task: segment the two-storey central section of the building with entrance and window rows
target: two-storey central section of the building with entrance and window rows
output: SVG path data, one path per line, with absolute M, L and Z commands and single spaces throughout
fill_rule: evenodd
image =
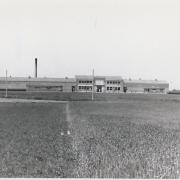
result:
M 120 93 L 123 92 L 123 79 L 120 76 L 76 76 L 78 92 Z

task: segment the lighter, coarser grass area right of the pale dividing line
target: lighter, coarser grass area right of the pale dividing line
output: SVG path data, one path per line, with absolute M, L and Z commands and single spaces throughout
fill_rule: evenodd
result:
M 179 178 L 180 103 L 73 102 L 77 177 Z

